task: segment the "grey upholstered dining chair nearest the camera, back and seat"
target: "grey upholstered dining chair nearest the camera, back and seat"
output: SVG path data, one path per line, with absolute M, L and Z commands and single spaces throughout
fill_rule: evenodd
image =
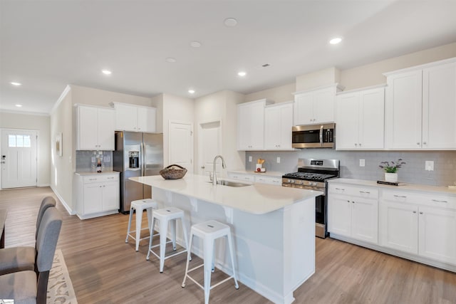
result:
M 49 271 L 61 226 L 62 217 L 57 209 L 46 209 L 38 227 L 34 271 L 19 271 L 0 276 L 0 299 L 14 299 L 15 304 L 46 304 Z

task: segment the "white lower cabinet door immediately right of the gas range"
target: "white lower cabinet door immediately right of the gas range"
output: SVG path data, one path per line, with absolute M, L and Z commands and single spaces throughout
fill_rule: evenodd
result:
M 328 195 L 328 231 L 351 236 L 351 201 L 348 196 Z

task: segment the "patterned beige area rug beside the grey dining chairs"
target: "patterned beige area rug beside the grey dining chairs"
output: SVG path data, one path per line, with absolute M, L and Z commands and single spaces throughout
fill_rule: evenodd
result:
M 49 273 L 48 299 L 46 302 L 47 304 L 78 304 L 73 283 L 71 283 L 70 274 L 60 249 L 56 250 L 51 272 Z

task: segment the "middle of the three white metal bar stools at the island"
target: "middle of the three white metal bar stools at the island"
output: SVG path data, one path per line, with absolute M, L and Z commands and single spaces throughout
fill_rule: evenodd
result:
M 176 253 L 172 253 L 169 256 L 165 256 L 165 248 L 167 243 L 172 242 L 172 248 L 176 250 L 176 221 L 180 219 L 180 223 L 182 224 L 182 230 L 184 232 L 184 239 L 185 239 L 185 250 L 179 251 Z M 185 229 L 185 222 L 184 222 L 184 211 L 175 207 L 167 207 L 163 209 L 154 210 L 152 214 L 152 226 L 155 226 L 155 221 L 158 220 L 160 222 L 160 243 L 157 245 L 152 246 L 152 237 L 149 240 L 149 252 L 147 252 L 146 260 L 149 261 L 150 253 L 153 253 L 157 258 L 160 258 L 160 273 L 163 272 L 163 266 L 165 265 L 165 260 L 167 258 L 171 258 L 172 256 L 177 256 L 177 254 L 185 253 L 188 247 L 188 239 L 187 239 L 187 229 Z M 168 222 L 172 221 L 171 223 L 171 234 L 172 240 L 167 240 L 167 229 L 168 229 Z M 160 256 L 157 255 L 152 248 L 160 246 Z

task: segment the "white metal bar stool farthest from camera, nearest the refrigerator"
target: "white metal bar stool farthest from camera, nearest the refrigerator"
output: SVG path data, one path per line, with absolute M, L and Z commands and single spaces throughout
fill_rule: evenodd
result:
M 152 209 L 157 209 L 157 202 L 153 199 L 138 199 L 137 201 L 132 201 L 130 205 L 130 218 L 128 219 L 128 229 L 127 229 L 127 237 L 125 238 L 125 243 L 128 243 L 128 236 L 136 241 L 136 251 L 138 251 L 140 246 L 140 241 L 144 239 L 149 239 L 150 236 L 153 234 L 152 226 L 150 223 L 152 221 Z M 133 210 L 136 210 L 136 229 L 130 231 L 131 227 L 131 219 L 133 217 Z M 142 211 L 147 211 L 147 221 L 149 226 L 147 228 L 142 228 Z M 141 230 L 149 229 L 149 236 L 140 239 Z M 136 232 L 135 236 L 133 236 L 133 232 Z

